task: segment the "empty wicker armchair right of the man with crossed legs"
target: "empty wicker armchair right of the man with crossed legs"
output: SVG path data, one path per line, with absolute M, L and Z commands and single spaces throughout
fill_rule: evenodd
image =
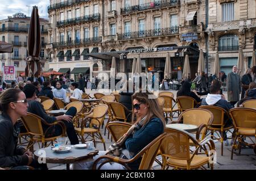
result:
M 92 137 L 92 140 L 94 142 L 94 146 L 96 146 L 96 138 L 101 140 L 100 142 L 104 145 L 104 150 L 106 150 L 105 140 L 101 136 L 100 127 L 105 119 L 106 112 L 108 111 L 108 106 L 105 104 L 100 104 L 96 107 L 94 107 L 90 112 L 88 112 L 88 116 L 85 116 L 85 118 L 82 120 L 81 127 L 76 127 L 76 133 L 79 135 L 81 142 L 84 143 L 86 141 L 87 137 Z M 86 128 L 86 125 L 89 125 L 88 128 Z M 84 138 L 84 134 L 87 134 L 87 136 Z

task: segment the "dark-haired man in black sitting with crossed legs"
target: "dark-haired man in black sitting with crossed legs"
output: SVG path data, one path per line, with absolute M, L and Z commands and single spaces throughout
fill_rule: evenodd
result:
M 68 138 L 71 142 L 71 145 L 79 144 L 79 140 L 77 138 L 75 128 L 72 123 L 72 118 L 76 115 L 76 108 L 71 107 L 68 109 L 68 111 L 65 113 L 65 115 L 62 116 L 48 116 L 46 111 L 44 110 L 44 107 L 41 103 L 36 101 L 37 97 L 35 94 L 35 86 L 33 85 L 26 85 L 23 88 L 23 92 L 26 94 L 27 100 L 28 100 L 28 112 L 34 113 L 35 115 L 38 115 L 42 117 L 47 123 L 54 123 L 55 121 L 63 121 L 63 123 L 66 126 Z M 48 128 L 47 125 L 43 125 L 43 130 L 46 131 Z M 62 129 L 59 125 L 56 125 L 54 128 L 49 129 L 49 131 L 46 133 L 47 137 L 52 136 L 58 136 L 62 133 Z

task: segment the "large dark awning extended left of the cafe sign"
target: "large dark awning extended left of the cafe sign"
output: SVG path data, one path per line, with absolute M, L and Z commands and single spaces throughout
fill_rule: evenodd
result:
M 120 57 L 120 56 L 125 57 L 127 55 L 127 53 L 129 53 L 129 52 L 125 50 L 125 51 L 90 53 L 90 54 L 87 54 L 87 55 L 90 56 L 90 57 L 93 57 L 93 58 L 101 59 L 101 60 L 112 60 L 112 57 L 122 59 L 122 57 Z

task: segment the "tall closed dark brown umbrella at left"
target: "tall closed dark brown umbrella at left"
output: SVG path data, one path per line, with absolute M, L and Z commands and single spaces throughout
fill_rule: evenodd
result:
M 33 6 L 30 28 L 28 30 L 27 37 L 27 65 L 25 69 L 25 74 L 28 77 L 39 77 L 41 72 L 41 64 L 39 60 L 39 54 L 41 50 L 41 32 L 40 32 L 40 22 L 38 15 L 38 7 Z

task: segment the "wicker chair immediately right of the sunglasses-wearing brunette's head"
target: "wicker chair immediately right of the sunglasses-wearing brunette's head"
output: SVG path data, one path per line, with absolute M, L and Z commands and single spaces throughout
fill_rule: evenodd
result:
M 173 113 L 179 112 L 179 109 L 174 109 L 175 105 L 172 104 L 172 102 L 176 104 L 175 99 L 167 95 L 160 95 L 159 98 L 164 99 L 163 112 L 166 115 L 166 119 L 170 118 L 172 120 L 172 117 L 174 116 Z

